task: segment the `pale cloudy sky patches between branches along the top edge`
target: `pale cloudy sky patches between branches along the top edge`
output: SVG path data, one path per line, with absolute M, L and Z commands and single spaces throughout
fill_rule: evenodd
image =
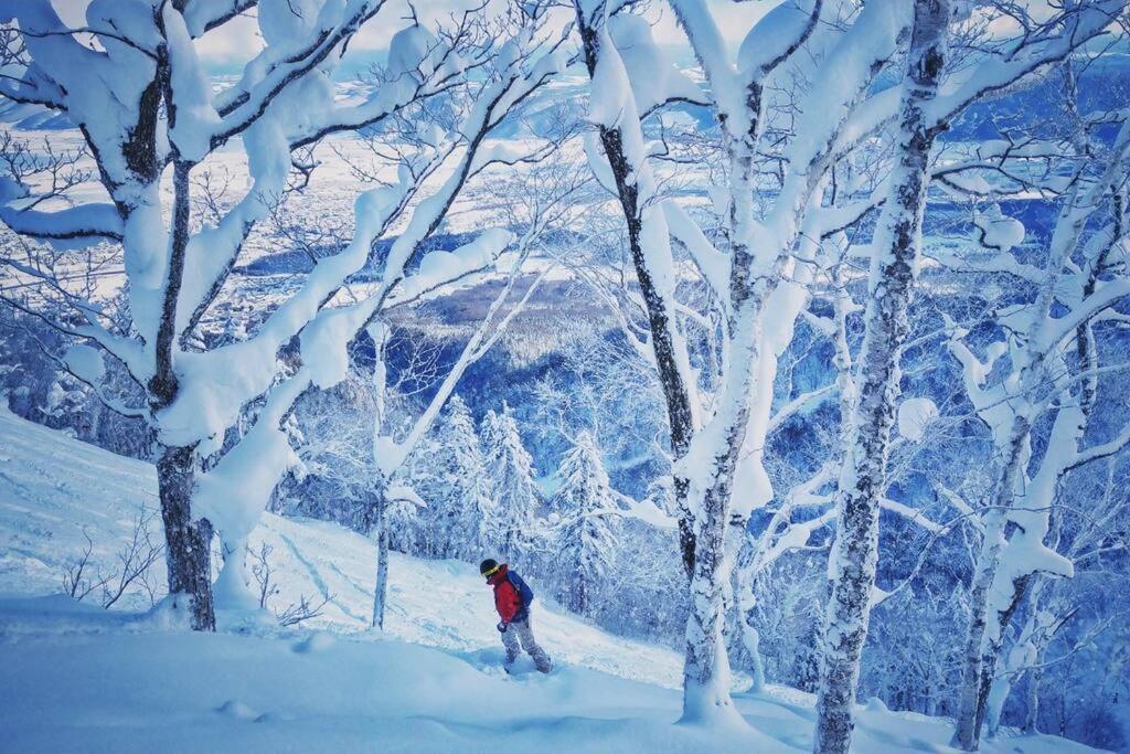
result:
M 76 26 L 85 24 L 86 7 L 90 0 L 51 0 L 63 20 Z M 416 0 L 416 10 L 424 20 L 446 16 L 478 0 Z M 780 0 L 707 0 L 719 19 L 723 36 L 731 45 L 737 45 L 758 18 L 764 16 Z M 388 7 L 376 18 L 366 24 L 351 43 L 353 50 L 379 52 L 385 50 L 393 34 L 406 25 L 407 5 L 403 0 L 389 0 Z M 684 45 L 686 40 L 679 32 L 670 9 L 663 8 L 652 14 L 655 38 L 661 44 Z M 259 49 L 258 26 L 254 11 L 236 18 L 221 28 L 207 34 L 198 42 L 198 47 L 216 67 L 232 67 L 251 59 Z

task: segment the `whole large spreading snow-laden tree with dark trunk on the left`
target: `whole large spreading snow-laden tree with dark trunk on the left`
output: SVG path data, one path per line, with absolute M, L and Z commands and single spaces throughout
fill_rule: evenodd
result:
M 216 93 L 194 40 L 252 5 L 264 49 L 234 85 Z M 511 242 L 508 233 L 487 232 L 454 254 L 443 252 L 442 263 L 433 258 L 410 265 L 466 181 L 495 158 L 479 151 L 484 138 L 560 64 L 555 44 L 538 34 L 536 9 L 523 6 L 508 17 L 524 27 L 510 29 L 513 35 L 487 28 L 469 11 L 438 33 L 416 24 L 399 32 L 364 96 L 341 104 L 333 71 L 350 38 L 384 5 L 299 5 L 92 3 L 87 25 L 71 28 L 47 0 L 0 3 L 0 20 L 12 25 L 21 42 L 11 61 L 18 68 L 6 75 L 0 94 L 64 113 L 82 133 L 104 194 L 68 206 L 61 194 L 75 182 L 49 177 L 67 170 L 58 162 L 33 173 L 8 171 L 0 218 L 38 241 L 120 248 L 128 319 L 115 322 L 104 302 L 75 293 L 42 268 L 9 266 L 8 272 L 70 305 L 75 315 L 54 322 L 56 328 L 93 344 L 132 376 L 139 398 L 132 410 L 149 421 L 160 443 L 168 601 L 198 630 L 215 626 L 212 531 L 220 532 L 226 552 L 244 552 L 276 483 L 295 461 L 281 428 L 295 400 L 345 376 L 348 344 L 383 307 L 490 265 Z M 477 71 L 473 81 L 464 76 L 468 69 Z M 279 196 L 305 190 L 316 170 L 301 159 L 302 150 L 336 132 L 391 122 L 440 96 L 452 102 L 462 96 L 467 106 L 457 109 L 452 128 L 432 129 L 401 154 L 391 180 L 360 193 L 348 244 L 318 260 L 251 337 L 207 347 L 199 333 L 249 236 Z M 246 153 L 250 188 L 201 226 L 192 217 L 193 172 L 233 144 Z M 409 211 L 425 181 L 443 175 L 428 201 Z M 171 199 L 162 189 L 164 177 L 172 179 Z M 340 305 L 338 293 L 349 276 L 401 218 L 408 218 L 407 227 L 383 260 L 380 279 L 359 301 Z M 8 303 L 34 306 L 27 298 Z M 290 369 L 278 354 L 295 340 L 301 363 Z M 247 411 L 255 414 L 253 426 L 225 444 L 228 430 Z M 220 457 L 201 473 L 201 460 L 216 453 Z M 241 557 L 228 558 L 217 590 L 233 604 L 254 603 Z

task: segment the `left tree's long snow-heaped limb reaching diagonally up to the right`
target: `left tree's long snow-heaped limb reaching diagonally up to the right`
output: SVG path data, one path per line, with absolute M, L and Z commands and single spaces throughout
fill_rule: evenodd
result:
M 420 261 L 415 276 L 406 277 L 409 260 L 440 226 L 471 175 L 478 148 L 486 136 L 511 107 L 542 86 L 559 68 L 556 47 L 538 59 L 525 73 L 514 68 L 522 63 L 516 53 L 515 50 L 507 60 L 499 61 L 503 78 L 485 87 L 460 127 L 460 138 L 468 140 L 467 146 L 459 151 L 440 150 L 441 162 L 453 155 L 446 161 L 450 175 L 434 193 L 417 203 L 408 226 L 392 243 L 376 288 L 356 305 L 323 311 L 346 279 L 364 266 L 373 242 L 400 216 L 406 197 L 415 193 L 420 182 L 432 174 L 432 168 L 424 174 L 401 171 L 400 184 L 362 194 L 355 207 L 356 228 L 349 245 L 338 254 L 319 260 L 302 288 L 271 313 L 253 338 L 205 354 L 183 354 L 182 390 L 176 404 L 165 413 L 166 436 L 177 440 L 192 435 L 220 436 L 244 405 L 270 388 L 275 378 L 275 354 L 299 333 L 306 356 L 303 376 L 321 388 L 336 384 L 346 373 L 346 346 L 383 306 L 394 302 L 393 293 L 401 301 L 418 296 L 483 269 L 510 244 L 508 234 L 488 232 L 455 253 L 432 252 Z M 238 372 L 235 380 L 220 378 L 233 371 L 233 366 L 224 364 L 237 363 L 258 366 L 235 370 Z M 201 411 L 201 406 L 210 406 L 212 410 Z

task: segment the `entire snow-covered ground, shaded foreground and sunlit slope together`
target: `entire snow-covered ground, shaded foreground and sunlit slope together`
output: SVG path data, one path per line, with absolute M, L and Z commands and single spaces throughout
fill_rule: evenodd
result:
M 739 694 L 748 730 L 673 726 L 676 652 L 544 600 L 534 625 L 557 667 L 505 675 L 489 592 L 464 563 L 393 556 L 388 631 L 367 632 L 374 548 L 322 522 L 267 515 L 252 541 L 272 547 L 272 607 L 331 597 L 303 631 L 221 616 L 215 635 L 169 632 L 140 593 L 108 613 L 47 596 L 84 531 L 110 567 L 142 504 L 156 504 L 149 466 L 0 411 L 0 751 L 810 749 L 808 695 Z M 877 702 L 859 729 L 859 752 L 949 751 L 953 730 Z M 1087 749 L 1037 736 L 982 751 Z

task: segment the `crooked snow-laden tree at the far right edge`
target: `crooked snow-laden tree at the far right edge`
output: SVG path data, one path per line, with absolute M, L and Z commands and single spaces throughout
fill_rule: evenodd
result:
M 955 329 L 950 350 L 962 363 L 965 389 L 999 456 L 992 499 L 979 521 L 982 544 L 971 584 L 965 678 L 956 743 L 977 746 L 1005 631 L 1036 573 L 1071 577 L 1071 562 L 1049 545 L 1051 511 L 1071 470 L 1119 452 L 1130 425 L 1104 441 L 1085 442 L 1099 400 L 1099 341 L 1095 327 L 1121 298 L 1130 279 L 1115 261 L 1130 237 L 1125 181 L 1130 175 L 1130 124 L 1123 121 L 1109 147 L 1084 133 L 1066 147 L 1070 179 L 1044 263 L 1011 259 L 1024 226 L 996 211 L 977 218 L 992 259 L 1031 292 L 996 318 L 996 337 L 980 358 Z M 1075 153 L 1075 154 L 1072 154 Z M 1102 154 L 1101 161 L 1094 155 Z M 1052 179 L 1057 181 L 1058 176 Z M 1001 228 L 1015 228 L 1007 234 Z M 984 266 L 974 259 L 975 267 Z M 1114 319 L 1121 315 L 1115 313 Z M 1072 364 L 1072 362 L 1075 362 Z M 1042 456 L 1033 449 L 1041 417 L 1051 417 Z M 1000 684 L 998 694 L 1001 693 Z M 997 707 L 999 714 L 999 704 Z M 991 721 L 996 728 L 996 721 Z

